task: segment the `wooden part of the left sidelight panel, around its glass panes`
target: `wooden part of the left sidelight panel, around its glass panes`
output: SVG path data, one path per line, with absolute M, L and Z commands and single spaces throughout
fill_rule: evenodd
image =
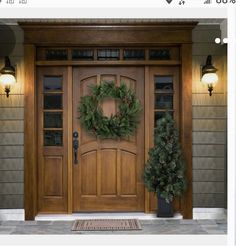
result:
M 62 145 L 44 143 L 44 76 L 62 77 Z M 38 118 L 38 212 L 68 212 L 68 69 L 39 68 L 37 71 Z M 48 93 L 48 92 L 47 92 Z

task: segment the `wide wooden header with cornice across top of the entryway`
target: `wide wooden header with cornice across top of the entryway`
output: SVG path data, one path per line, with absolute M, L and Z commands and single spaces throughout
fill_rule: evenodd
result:
M 153 25 L 49 25 L 20 23 L 25 43 L 68 45 L 120 45 L 150 43 L 190 43 L 196 23 L 156 23 Z M 174 32 L 173 32 L 174 31 Z M 58 35 L 60 32 L 60 35 Z M 104 41 L 104 37 L 107 37 Z

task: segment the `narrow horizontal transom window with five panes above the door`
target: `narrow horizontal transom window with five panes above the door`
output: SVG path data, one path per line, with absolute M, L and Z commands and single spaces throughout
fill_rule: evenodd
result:
M 38 61 L 179 61 L 180 49 L 168 47 L 72 47 L 72 48 L 38 48 Z

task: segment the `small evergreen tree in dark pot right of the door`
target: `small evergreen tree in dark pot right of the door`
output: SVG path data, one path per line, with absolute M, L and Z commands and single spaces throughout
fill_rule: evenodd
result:
M 169 113 L 157 121 L 154 147 L 144 169 L 144 184 L 157 195 L 157 217 L 173 217 L 172 201 L 185 189 L 179 133 Z

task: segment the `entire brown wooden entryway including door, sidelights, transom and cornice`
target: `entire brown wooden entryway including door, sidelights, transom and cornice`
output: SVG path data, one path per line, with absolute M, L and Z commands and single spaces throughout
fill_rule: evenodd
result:
M 191 30 L 195 24 L 21 25 L 27 67 L 27 219 L 44 213 L 155 212 L 157 201 L 144 188 L 143 168 L 155 122 L 166 110 L 179 127 L 187 163 L 188 188 L 174 201 L 174 209 L 184 218 L 192 217 Z M 85 36 L 90 38 L 85 41 Z M 89 92 L 89 85 L 103 80 L 117 86 L 124 81 L 140 100 L 142 113 L 134 136 L 101 140 L 81 127 L 80 98 Z M 103 113 L 114 115 L 117 106 L 112 99 L 103 100 Z

